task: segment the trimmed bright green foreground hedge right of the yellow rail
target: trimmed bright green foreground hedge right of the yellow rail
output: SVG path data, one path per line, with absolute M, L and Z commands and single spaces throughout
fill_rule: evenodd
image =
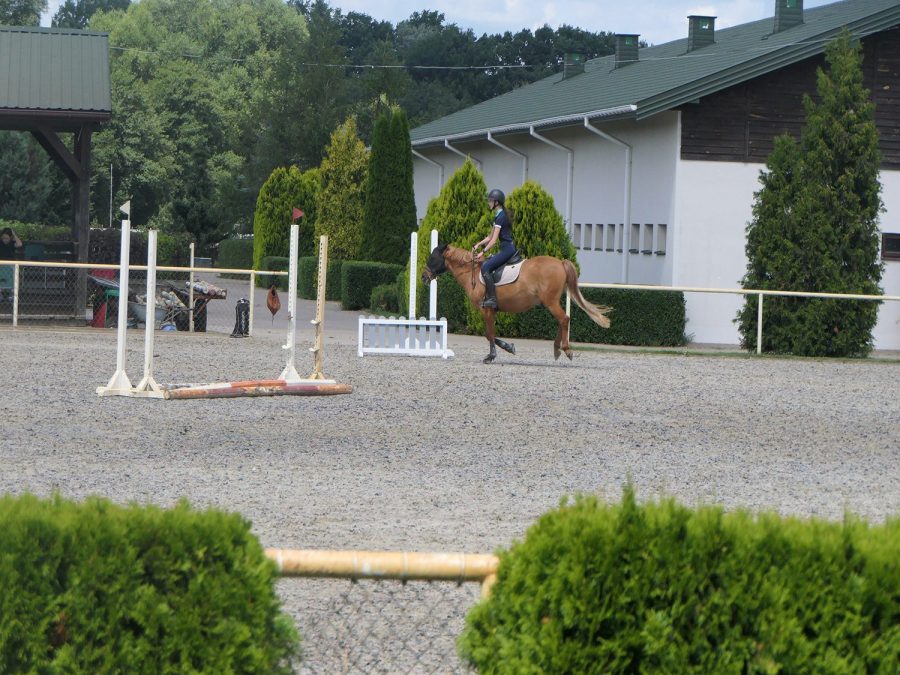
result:
M 483 673 L 888 673 L 900 519 L 869 526 L 593 498 L 501 553 L 460 650 Z

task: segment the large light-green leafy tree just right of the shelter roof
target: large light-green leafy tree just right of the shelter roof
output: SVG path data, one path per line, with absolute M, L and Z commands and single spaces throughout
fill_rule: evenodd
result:
M 290 71 L 303 18 L 279 0 L 144 0 L 90 26 L 112 48 L 113 117 L 95 137 L 94 210 L 109 199 L 112 164 L 114 201 L 132 199 L 136 224 L 188 232 L 201 247 L 246 230 L 274 166 L 255 182 L 264 92 L 276 71 Z

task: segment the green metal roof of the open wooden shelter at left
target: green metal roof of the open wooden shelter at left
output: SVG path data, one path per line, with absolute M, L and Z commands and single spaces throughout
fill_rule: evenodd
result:
M 111 111 L 106 33 L 0 26 L 0 110 Z

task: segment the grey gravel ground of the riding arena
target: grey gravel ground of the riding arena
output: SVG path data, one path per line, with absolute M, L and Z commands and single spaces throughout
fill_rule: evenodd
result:
M 208 332 L 157 333 L 157 381 L 281 372 L 286 298 L 270 325 L 257 291 L 253 337 L 231 339 L 246 286 L 222 283 L 228 300 L 210 304 Z M 314 303 L 298 308 L 305 375 Z M 115 330 L 7 320 L 0 491 L 164 507 L 184 497 L 241 513 L 267 547 L 467 553 L 508 547 L 566 495 L 618 501 L 629 480 L 641 500 L 831 520 L 900 513 L 896 354 L 591 348 L 569 362 L 549 341 L 516 340 L 515 356 L 485 366 L 483 338 L 451 335 L 449 360 L 359 358 L 357 317 L 328 303 L 325 374 L 352 394 L 190 401 L 97 396 L 115 370 Z M 136 383 L 143 328 L 128 335 Z M 299 672 L 465 671 L 454 640 L 477 584 L 283 579 L 279 593 L 303 636 Z

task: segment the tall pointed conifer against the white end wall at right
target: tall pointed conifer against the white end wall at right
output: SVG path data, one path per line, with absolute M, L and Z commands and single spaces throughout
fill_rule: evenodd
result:
M 747 230 L 747 288 L 880 293 L 881 185 L 874 105 L 862 53 L 844 31 L 826 49 L 819 101 L 804 99 L 799 148 L 779 139 L 761 177 Z M 742 344 L 756 348 L 756 298 L 738 315 Z M 872 348 L 873 302 L 820 298 L 765 301 L 763 348 L 805 356 L 860 356 Z

